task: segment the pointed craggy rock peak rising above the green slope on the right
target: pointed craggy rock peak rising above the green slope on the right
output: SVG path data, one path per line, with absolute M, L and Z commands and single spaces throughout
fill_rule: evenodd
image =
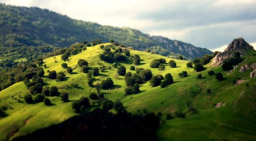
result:
M 244 55 L 246 50 L 254 50 L 254 49 L 243 38 L 233 39 L 233 41 L 229 43 L 229 45 L 224 50 L 224 52 L 218 53 L 215 56 L 215 58 L 211 62 L 211 65 L 213 66 L 221 65 L 224 60 L 232 57 L 231 51 L 240 52 L 241 55 Z

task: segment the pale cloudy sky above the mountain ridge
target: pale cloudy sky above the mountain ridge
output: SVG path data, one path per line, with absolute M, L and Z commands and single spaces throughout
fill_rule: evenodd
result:
M 129 27 L 223 51 L 234 38 L 256 46 L 256 0 L 0 0 L 74 19 Z M 255 49 L 255 47 L 254 47 Z

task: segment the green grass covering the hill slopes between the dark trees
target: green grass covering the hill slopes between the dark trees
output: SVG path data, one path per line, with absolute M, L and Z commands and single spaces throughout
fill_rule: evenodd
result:
M 108 43 L 106 43 L 108 44 Z M 106 45 L 104 44 L 104 45 Z M 111 66 L 98 57 L 103 52 L 99 48 L 100 45 L 87 48 L 86 51 L 71 56 L 68 62 L 69 66 L 75 68 L 78 59 L 85 59 L 89 62 L 90 67 L 98 66 L 97 62 L 103 63 L 105 66 Z M 138 54 L 141 58 L 141 64 L 137 67 L 148 68 L 152 70 L 153 75 L 165 75 L 171 73 L 175 83 L 165 88 L 151 87 L 149 83 L 142 84 L 141 92 L 136 95 L 124 95 L 125 82 L 124 77 L 120 76 L 115 79 L 117 68 L 107 69 L 104 73 L 100 73 L 98 77 L 94 77 L 98 81 L 111 77 L 115 87 L 111 90 L 101 90 L 106 98 L 116 101 L 121 100 L 126 109 L 131 112 L 138 112 L 146 109 L 155 113 L 162 113 L 162 124 L 158 131 L 160 140 L 170 139 L 256 139 L 256 121 L 255 121 L 255 78 L 249 78 L 251 70 L 240 74 L 238 69 L 227 73 L 221 67 L 211 67 L 208 64 L 206 70 L 200 72 L 203 79 L 197 79 L 199 73 L 193 68 L 187 68 L 187 61 L 175 60 L 177 67 L 170 68 L 165 64 L 165 70 L 160 72 L 158 68 L 150 68 L 150 62 L 153 59 L 164 58 L 166 62 L 170 58 L 160 55 L 130 50 L 131 55 Z M 253 52 L 254 53 L 254 52 Z M 247 56 L 251 56 L 252 52 Z M 73 74 L 68 74 L 66 69 L 61 67 L 61 56 L 50 57 L 44 60 L 47 70 L 63 71 L 67 77 L 65 81 L 56 82 L 56 80 L 44 77 L 45 86 L 57 86 L 59 91 L 69 93 L 71 101 L 79 99 L 81 96 L 89 96 L 89 92 L 96 90 L 87 83 L 87 74 L 81 73 L 80 67 L 73 70 Z M 56 61 L 55 61 L 56 60 Z M 256 57 L 245 60 L 239 66 L 249 62 L 256 62 Z M 126 67 L 126 72 L 133 65 L 131 60 L 125 62 L 117 62 L 119 65 Z M 186 70 L 188 77 L 179 78 L 178 73 Z M 215 73 L 224 74 L 225 80 L 217 81 L 215 76 L 209 76 L 207 72 L 214 70 Z M 132 74 L 135 71 L 131 71 Z M 45 74 L 45 76 L 48 74 Z M 245 83 L 233 85 L 233 80 L 246 80 L 249 87 Z M 97 82 L 94 82 L 97 83 Z M 78 84 L 75 88 L 72 84 Z M 207 93 L 207 89 L 211 89 L 211 93 Z M 12 138 L 18 135 L 26 134 L 42 127 L 57 124 L 65 121 L 69 117 L 75 115 L 71 107 L 71 102 L 63 103 L 60 97 L 49 97 L 53 103 L 52 106 L 45 106 L 43 103 L 27 104 L 19 103 L 17 100 L 11 99 L 24 96 L 28 93 L 23 82 L 0 91 L 0 105 L 8 105 L 6 117 L 0 119 L 0 140 L 4 138 Z M 22 100 L 24 102 L 24 100 Z M 219 108 L 214 105 L 220 103 Z M 93 104 L 93 101 L 91 101 Z M 188 112 L 189 107 L 197 108 L 198 112 L 193 114 Z M 186 113 L 185 118 L 176 117 L 175 112 Z M 175 119 L 166 120 L 166 114 L 172 114 Z M 0 117 L 1 118 L 1 117 Z

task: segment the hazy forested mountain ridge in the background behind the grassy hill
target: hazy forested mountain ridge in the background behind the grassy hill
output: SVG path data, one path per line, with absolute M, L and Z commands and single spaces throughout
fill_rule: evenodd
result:
M 1 46 L 70 46 L 83 40 L 114 39 L 126 46 L 144 51 L 152 49 L 161 55 L 180 54 L 186 58 L 202 57 L 207 49 L 160 36 L 150 36 L 130 28 L 101 26 L 97 23 L 71 19 L 65 15 L 36 7 L 0 5 Z M 153 48 L 154 47 L 154 48 Z

